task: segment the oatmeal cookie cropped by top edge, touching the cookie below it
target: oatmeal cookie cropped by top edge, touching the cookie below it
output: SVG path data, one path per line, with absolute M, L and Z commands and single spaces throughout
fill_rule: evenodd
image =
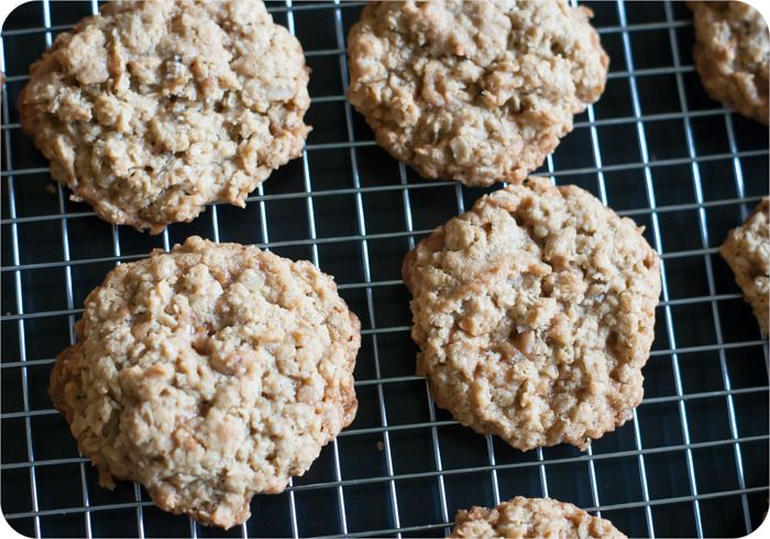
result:
M 561 0 L 370 2 L 348 37 L 348 97 L 422 176 L 518 183 L 604 91 L 590 16 Z

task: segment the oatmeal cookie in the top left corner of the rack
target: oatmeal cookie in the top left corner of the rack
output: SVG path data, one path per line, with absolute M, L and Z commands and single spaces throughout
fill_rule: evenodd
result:
M 260 0 L 109 2 L 32 65 L 21 123 L 97 215 L 161 232 L 300 155 L 308 69 Z

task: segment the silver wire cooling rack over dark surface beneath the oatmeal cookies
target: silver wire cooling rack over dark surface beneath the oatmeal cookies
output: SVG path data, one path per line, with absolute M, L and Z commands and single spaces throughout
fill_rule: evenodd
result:
M 710 100 L 679 3 L 591 3 L 612 63 L 540 174 L 578 184 L 647 227 L 662 255 L 657 338 L 634 421 L 585 453 L 516 451 L 458 426 L 414 375 L 400 263 L 481 189 L 426 182 L 373 142 L 344 98 L 346 33 L 361 2 L 270 7 L 312 68 L 307 148 L 252 194 L 158 237 L 67 200 L 19 129 L 29 65 L 96 2 L 32 2 L 2 29 L 1 505 L 36 537 L 442 536 L 459 508 L 551 496 L 629 536 L 741 536 L 768 504 L 768 349 L 717 250 L 768 191 L 768 132 Z M 336 276 L 363 345 L 355 422 L 282 495 L 255 496 L 228 532 L 164 514 L 139 486 L 98 486 L 47 378 L 88 292 L 118 262 L 191 234 L 255 243 Z

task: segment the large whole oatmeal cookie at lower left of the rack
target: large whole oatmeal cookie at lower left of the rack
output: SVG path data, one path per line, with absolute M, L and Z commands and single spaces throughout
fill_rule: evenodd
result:
M 103 486 L 230 528 L 353 420 L 359 328 L 309 262 L 193 237 L 91 292 L 50 393 Z

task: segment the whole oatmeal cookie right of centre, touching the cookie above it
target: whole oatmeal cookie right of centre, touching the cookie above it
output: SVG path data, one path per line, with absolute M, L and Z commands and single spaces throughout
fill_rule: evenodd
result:
M 585 449 L 641 400 L 658 256 L 591 194 L 532 177 L 485 196 L 403 275 L 417 372 L 462 425 L 521 450 Z

